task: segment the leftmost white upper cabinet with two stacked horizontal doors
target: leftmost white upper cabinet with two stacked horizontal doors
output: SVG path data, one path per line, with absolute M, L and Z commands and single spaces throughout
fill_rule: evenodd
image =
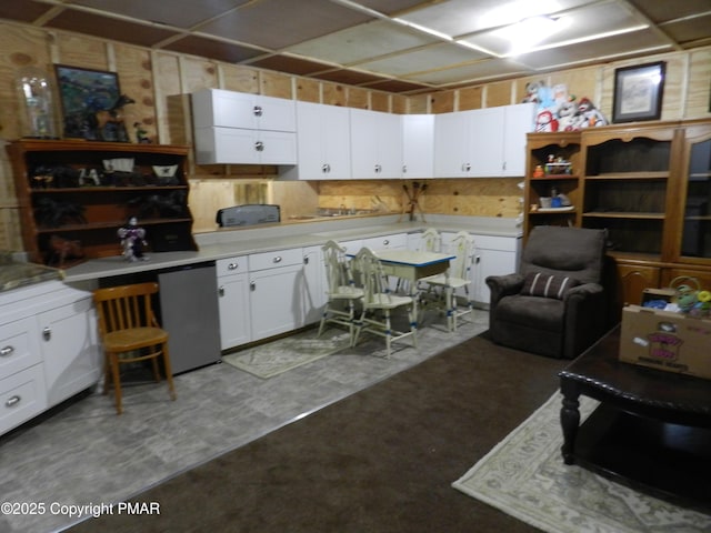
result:
M 198 164 L 296 164 L 293 100 L 207 89 L 192 94 Z

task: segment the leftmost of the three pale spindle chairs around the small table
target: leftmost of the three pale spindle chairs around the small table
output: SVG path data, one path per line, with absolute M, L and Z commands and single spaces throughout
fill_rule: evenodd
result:
M 346 257 L 344 248 L 336 241 L 328 241 L 322 250 L 328 282 L 328 302 L 323 308 L 318 336 L 321 336 L 327 323 L 346 325 L 352 346 L 356 341 L 356 303 L 363 299 L 363 290 L 356 286 L 351 261 Z

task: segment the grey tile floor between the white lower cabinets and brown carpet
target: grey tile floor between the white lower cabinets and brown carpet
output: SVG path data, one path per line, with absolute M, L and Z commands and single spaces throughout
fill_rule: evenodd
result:
M 101 394 L 62 405 L 0 438 L 0 500 L 46 506 L 41 515 L 0 513 L 0 531 L 62 531 L 79 520 L 62 506 L 126 500 L 488 328 L 488 312 L 464 320 L 449 333 L 428 314 L 419 348 L 405 340 L 389 359 L 372 355 L 382 340 L 371 338 L 269 380 L 213 364 L 178 375 L 176 402 L 164 383 L 131 386 L 121 416 Z

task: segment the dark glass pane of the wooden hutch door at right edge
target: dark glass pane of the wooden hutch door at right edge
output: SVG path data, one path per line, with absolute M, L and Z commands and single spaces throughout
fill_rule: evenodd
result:
M 690 150 L 681 254 L 711 258 L 711 139 Z

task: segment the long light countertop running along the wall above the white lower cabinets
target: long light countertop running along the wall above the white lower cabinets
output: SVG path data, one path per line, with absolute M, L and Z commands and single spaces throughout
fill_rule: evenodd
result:
M 519 238 L 514 219 L 428 215 L 427 222 L 402 221 L 398 215 L 307 221 L 241 229 L 222 229 L 196 234 L 199 251 L 147 253 L 147 261 L 126 261 L 122 255 L 92 259 L 63 271 L 64 282 L 92 281 L 151 270 L 199 264 L 219 259 L 288 248 L 322 245 L 329 239 L 349 240 L 437 228 L 492 237 Z

